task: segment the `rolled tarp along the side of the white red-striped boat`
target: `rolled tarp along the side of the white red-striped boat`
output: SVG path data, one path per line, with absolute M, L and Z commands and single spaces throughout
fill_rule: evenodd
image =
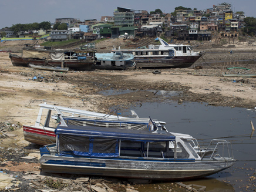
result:
M 99 120 L 72 120 L 66 119 L 66 124 L 80 125 L 80 126 L 98 126 L 98 127 L 116 127 L 119 129 L 132 129 L 132 130 L 149 130 L 149 123 L 139 123 L 139 122 L 108 122 L 108 121 L 99 121 Z

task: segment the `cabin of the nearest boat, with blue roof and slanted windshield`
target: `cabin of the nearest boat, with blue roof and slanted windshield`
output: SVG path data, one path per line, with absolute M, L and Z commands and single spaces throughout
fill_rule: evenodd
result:
M 115 129 L 112 127 L 58 126 L 56 153 L 71 157 L 122 157 L 200 159 L 186 139 L 171 133 Z M 170 147 L 170 142 L 174 147 Z

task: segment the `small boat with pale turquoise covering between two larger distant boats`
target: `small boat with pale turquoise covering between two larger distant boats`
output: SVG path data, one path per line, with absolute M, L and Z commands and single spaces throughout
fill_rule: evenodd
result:
M 93 69 L 129 69 L 135 68 L 134 56 L 128 53 L 95 53 Z

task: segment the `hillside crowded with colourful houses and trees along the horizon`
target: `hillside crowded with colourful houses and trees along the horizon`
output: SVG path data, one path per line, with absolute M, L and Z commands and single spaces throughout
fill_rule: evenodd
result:
M 231 4 L 213 5 L 197 10 L 178 6 L 174 12 L 135 10 L 117 7 L 113 16 L 97 19 L 56 18 L 55 23 L 15 24 L 0 30 L 1 42 L 14 40 L 66 41 L 102 38 L 154 38 L 157 35 L 180 41 L 211 41 L 212 38 L 255 36 L 255 18 L 242 11 L 233 12 Z M 252 26 L 251 26 L 252 25 Z

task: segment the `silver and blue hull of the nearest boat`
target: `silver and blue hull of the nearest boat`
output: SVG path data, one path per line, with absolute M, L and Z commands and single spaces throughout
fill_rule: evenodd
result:
M 184 161 L 144 159 L 95 159 L 58 157 L 44 154 L 42 170 L 50 173 L 86 174 L 110 177 L 142 178 L 150 180 L 189 180 L 206 177 L 227 169 L 234 160 Z

